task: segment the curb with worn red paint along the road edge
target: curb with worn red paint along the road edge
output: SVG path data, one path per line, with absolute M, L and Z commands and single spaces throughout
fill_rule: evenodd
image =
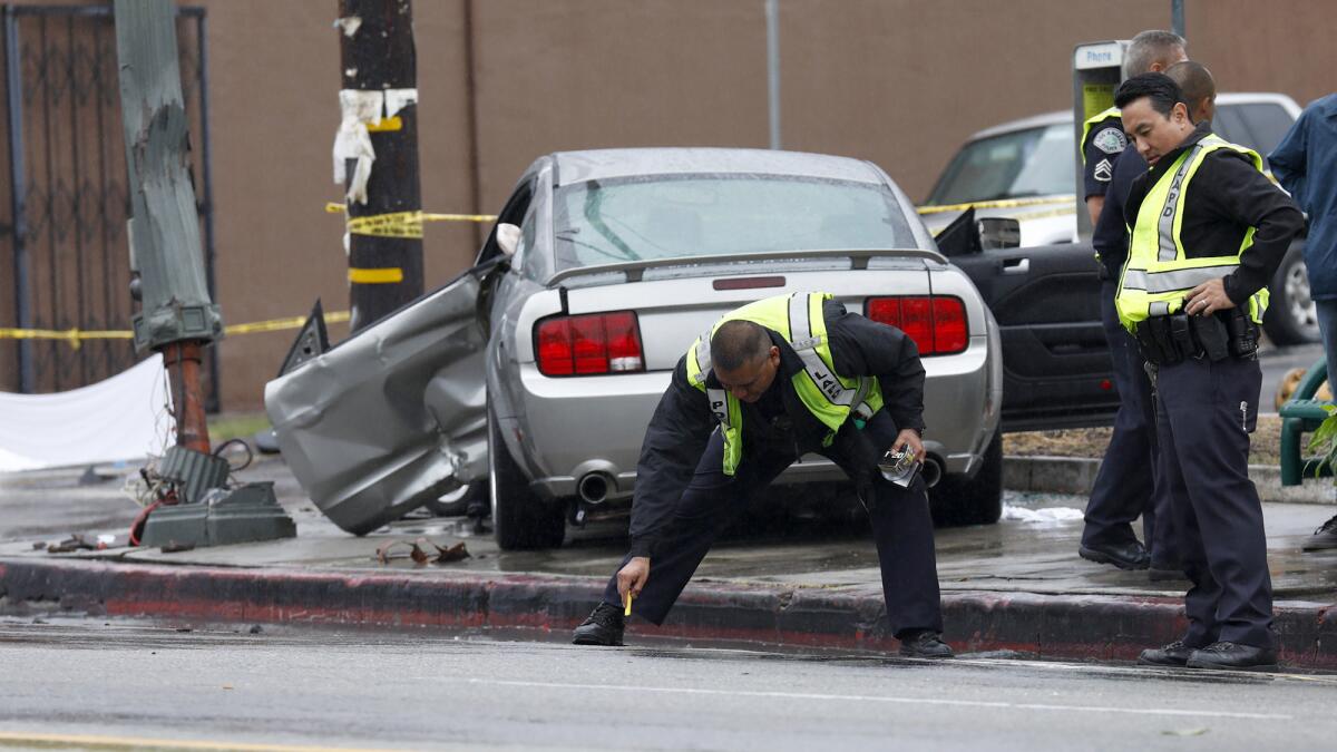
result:
M 377 628 L 567 630 L 603 593 L 602 578 L 445 571 L 337 573 L 128 565 L 75 559 L 0 561 L 0 612 L 213 622 Z M 1055 658 L 1131 660 L 1182 634 L 1177 598 L 947 593 L 945 638 L 963 652 L 1017 650 Z M 1337 669 L 1337 606 L 1278 603 L 1282 661 Z M 893 650 L 876 590 L 832 591 L 739 583 L 689 586 L 662 628 L 634 633 L 691 640 Z

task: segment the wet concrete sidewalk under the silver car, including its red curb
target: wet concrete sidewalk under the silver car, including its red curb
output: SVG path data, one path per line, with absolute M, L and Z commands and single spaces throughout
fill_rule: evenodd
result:
M 128 470 L 128 468 L 127 468 Z M 531 628 L 564 632 L 598 602 L 624 551 L 616 525 L 575 531 L 560 550 L 501 553 L 456 521 L 401 521 L 365 538 L 330 525 L 281 460 L 243 471 L 275 480 L 298 538 L 166 554 L 112 547 L 48 554 L 35 542 L 70 533 L 118 535 L 136 507 L 119 479 L 80 486 L 80 472 L 0 476 L 0 613 L 49 612 L 186 621 L 302 622 L 377 628 Z M 1021 508 L 1080 507 L 1082 496 L 1009 492 Z M 1284 661 L 1337 669 L 1337 553 L 1301 554 L 1329 508 L 1266 504 L 1277 630 Z M 1186 583 L 1151 583 L 1076 557 L 1082 522 L 937 531 L 947 640 L 963 652 L 1130 660 L 1183 629 Z M 381 565 L 386 541 L 467 542 L 472 558 Z M 663 628 L 691 640 L 890 650 L 876 551 L 860 523 L 793 522 L 718 546 Z

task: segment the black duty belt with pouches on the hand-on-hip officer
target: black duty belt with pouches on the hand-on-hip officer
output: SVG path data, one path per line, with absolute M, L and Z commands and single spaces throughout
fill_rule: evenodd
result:
M 1155 316 L 1138 322 L 1134 339 L 1142 357 L 1157 365 L 1190 357 L 1254 359 L 1258 352 L 1258 325 L 1238 306 L 1211 316 Z

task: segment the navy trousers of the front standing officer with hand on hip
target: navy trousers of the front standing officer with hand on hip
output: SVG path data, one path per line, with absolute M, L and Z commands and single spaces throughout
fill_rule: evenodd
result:
M 1269 648 L 1271 577 L 1262 504 L 1249 480 L 1249 434 L 1258 417 L 1257 360 L 1189 359 L 1157 376 L 1161 471 L 1177 549 L 1193 582 L 1185 644 Z

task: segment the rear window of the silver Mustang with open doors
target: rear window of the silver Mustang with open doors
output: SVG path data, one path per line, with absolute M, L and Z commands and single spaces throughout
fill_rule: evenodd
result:
M 816 249 L 916 248 L 884 186 L 792 175 L 650 175 L 559 187 L 559 270 Z

